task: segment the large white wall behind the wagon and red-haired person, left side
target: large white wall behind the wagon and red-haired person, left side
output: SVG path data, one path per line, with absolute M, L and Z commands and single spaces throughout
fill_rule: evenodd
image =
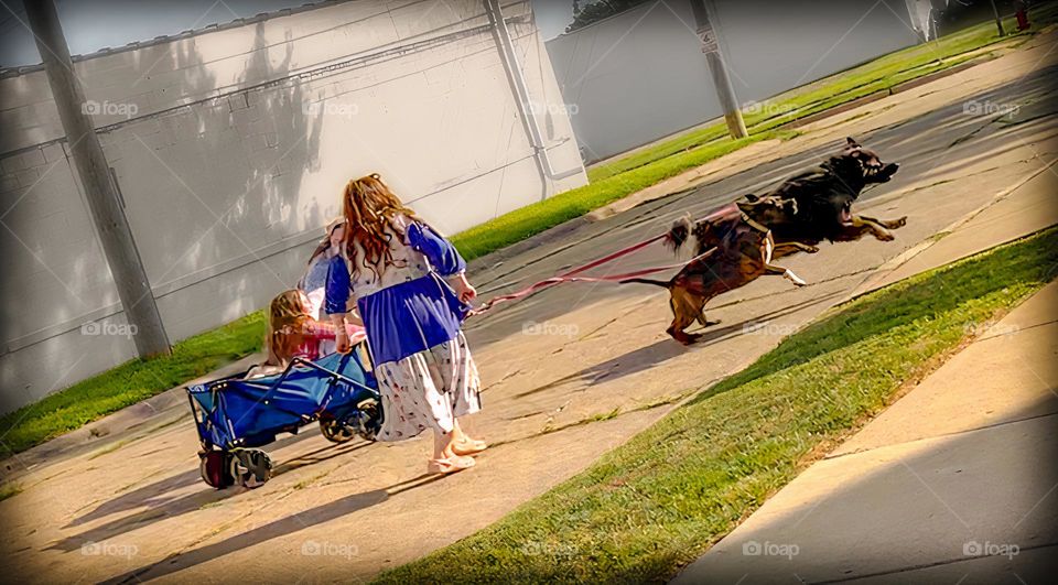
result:
M 557 174 L 541 178 L 478 0 L 326 2 L 86 56 L 173 340 L 301 275 L 345 182 L 379 172 L 455 232 L 586 177 L 527 1 L 504 4 Z M 0 411 L 134 356 L 42 71 L 0 78 Z M 109 327 L 108 327 L 109 325 Z

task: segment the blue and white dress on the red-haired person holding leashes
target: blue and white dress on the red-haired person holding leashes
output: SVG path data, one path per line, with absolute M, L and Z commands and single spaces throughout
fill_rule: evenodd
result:
M 350 292 L 356 297 L 382 397 L 380 441 L 425 429 L 449 433 L 455 416 L 482 408 L 481 380 L 461 331 L 469 307 L 445 281 L 466 262 L 429 226 L 397 216 L 393 228 L 392 263 L 350 267 L 343 257 L 332 259 L 325 303 L 328 314 L 344 313 Z M 363 263 L 363 249 L 357 258 Z

